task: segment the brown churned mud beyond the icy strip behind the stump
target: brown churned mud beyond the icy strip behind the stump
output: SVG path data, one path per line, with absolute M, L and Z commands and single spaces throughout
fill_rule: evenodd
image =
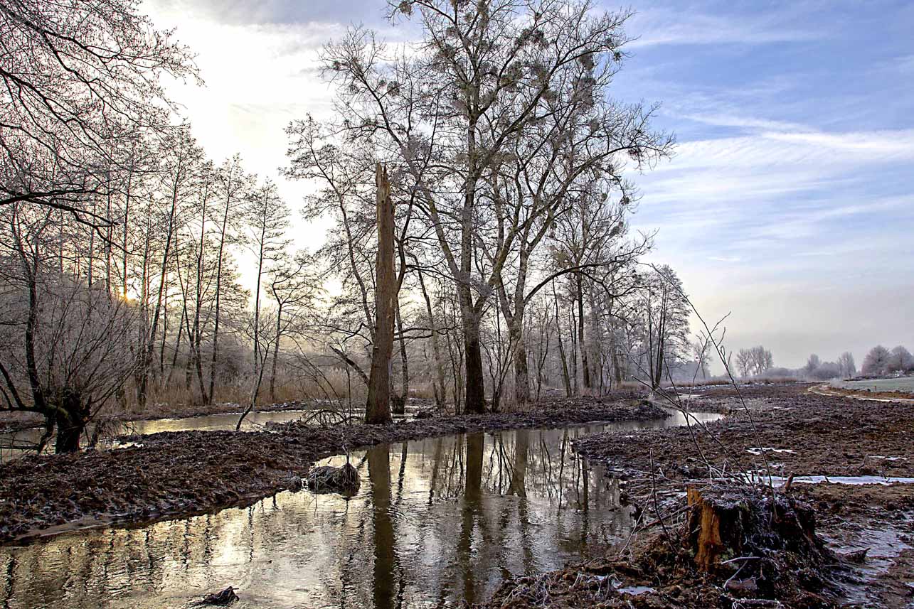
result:
M 813 394 L 771 397 L 751 415 L 734 406 L 722 421 L 694 428 L 597 434 L 579 453 L 630 478 L 654 467 L 665 478 L 707 478 L 710 462 L 728 471 L 776 476 L 914 476 L 914 404 L 870 404 Z M 764 450 L 762 450 L 764 449 Z

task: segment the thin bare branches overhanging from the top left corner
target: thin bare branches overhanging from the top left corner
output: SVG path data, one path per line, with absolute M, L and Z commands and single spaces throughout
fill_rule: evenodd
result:
M 159 78 L 197 78 L 189 52 L 130 0 L 4 2 L 0 39 L 0 205 L 110 225 L 85 204 L 122 184 L 126 142 L 167 125 Z

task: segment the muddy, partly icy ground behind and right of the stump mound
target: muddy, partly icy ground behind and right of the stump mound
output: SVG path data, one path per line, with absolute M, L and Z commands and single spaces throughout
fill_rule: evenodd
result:
M 834 574 L 843 606 L 914 606 L 914 404 L 807 394 L 803 387 L 765 391 L 742 392 L 748 411 L 733 402 L 732 389 L 690 400 L 690 407 L 718 410 L 729 401 L 727 418 L 707 429 L 599 434 L 576 447 L 627 481 L 622 499 L 645 513 L 658 498 L 662 511 L 672 512 L 687 485 L 711 478 L 745 474 L 763 490 L 771 484 L 813 506 L 817 531 L 839 557 L 869 549 L 866 560 Z M 893 479 L 905 483 L 888 484 Z M 689 606 L 654 601 L 650 606 Z M 718 601 L 707 606 L 728 606 Z

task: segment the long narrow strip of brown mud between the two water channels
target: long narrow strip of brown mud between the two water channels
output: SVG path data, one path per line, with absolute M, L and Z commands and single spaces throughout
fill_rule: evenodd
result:
M 248 505 L 296 488 L 314 461 L 358 446 L 462 432 L 663 418 L 636 401 L 575 398 L 529 413 L 445 416 L 393 425 L 267 432 L 170 432 L 112 451 L 0 465 L 0 541 L 80 525 L 142 523 Z

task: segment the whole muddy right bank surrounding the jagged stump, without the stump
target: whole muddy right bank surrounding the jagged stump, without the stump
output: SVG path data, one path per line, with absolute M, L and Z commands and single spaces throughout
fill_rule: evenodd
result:
M 749 412 L 732 403 L 734 390 L 711 391 L 690 404 L 704 401 L 707 408 L 725 399 L 732 407 L 725 419 L 705 428 L 579 439 L 579 454 L 622 479 L 624 498 L 643 514 L 643 530 L 607 551 L 604 560 L 509 581 L 486 606 L 909 607 L 914 484 L 809 484 L 801 477 L 914 478 L 914 404 L 866 403 L 807 389 L 741 391 Z M 740 574 L 739 561 L 716 573 L 697 568 L 690 530 L 695 521 L 689 519 L 695 508 L 686 505 L 685 491 L 719 490 L 709 472 L 718 479 L 771 472 L 775 492 L 760 483 L 757 496 L 781 497 L 811 515 L 821 546 L 814 556 L 782 546 L 749 559 L 774 561 L 772 572 L 795 577 L 776 578 L 771 588 L 771 573 L 767 579 L 752 568 Z

